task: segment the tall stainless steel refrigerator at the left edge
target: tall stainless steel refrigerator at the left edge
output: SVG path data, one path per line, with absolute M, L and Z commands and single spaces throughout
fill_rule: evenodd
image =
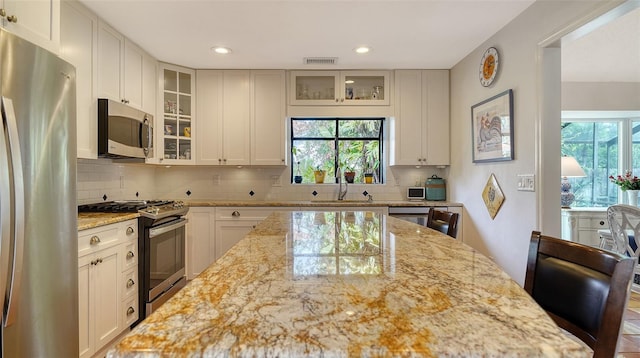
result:
M 2 357 L 78 356 L 75 69 L 0 29 Z

